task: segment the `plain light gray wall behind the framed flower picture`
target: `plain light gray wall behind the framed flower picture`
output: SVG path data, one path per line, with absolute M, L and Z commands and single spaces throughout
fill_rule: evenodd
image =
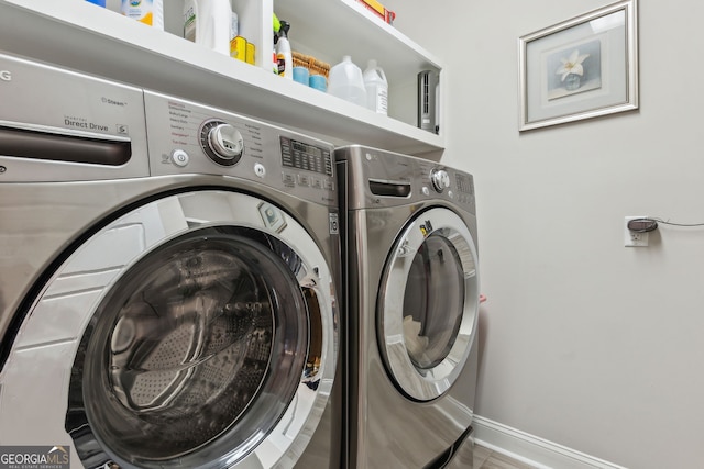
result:
M 629 468 L 704 467 L 704 228 L 623 233 L 704 222 L 704 3 L 641 0 L 640 110 L 525 134 L 517 38 L 608 0 L 384 3 L 446 64 L 442 161 L 475 175 L 477 414 Z

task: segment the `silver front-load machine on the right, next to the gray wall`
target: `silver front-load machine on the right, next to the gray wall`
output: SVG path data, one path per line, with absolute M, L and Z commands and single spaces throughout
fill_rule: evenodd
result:
M 479 272 L 471 175 L 336 149 L 351 468 L 472 467 Z

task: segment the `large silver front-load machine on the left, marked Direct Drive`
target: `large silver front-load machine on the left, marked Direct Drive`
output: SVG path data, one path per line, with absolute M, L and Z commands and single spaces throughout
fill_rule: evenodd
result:
M 332 146 L 9 54 L 0 70 L 6 460 L 339 467 Z

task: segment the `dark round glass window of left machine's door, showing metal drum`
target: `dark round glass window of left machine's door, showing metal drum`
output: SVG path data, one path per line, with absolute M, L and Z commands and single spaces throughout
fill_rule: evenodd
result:
M 308 343 L 293 253 L 272 248 L 285 246 L 253 230 L 207 228 L 129 269 L 81 340 L 67 429 L 85 409 L 101 446 L 145 467 L 256 445 L 293 399 Z

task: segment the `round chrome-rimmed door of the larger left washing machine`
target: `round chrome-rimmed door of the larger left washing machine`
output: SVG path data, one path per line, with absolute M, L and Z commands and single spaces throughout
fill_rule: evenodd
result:
M 332 386 L 332 295 L 322 253 L 276 206 L 227 191 L 161 199 L 58 269 L 15 340 L 0 405 L 68 401 L 68 443 L 85 467 L 289 465 Z M 57 314 L 70 325 L 42 324 Z M 18 368 L 23 353 L 56 366 L 57 344 L 66 387 L 21 395 L 42 386 Z

